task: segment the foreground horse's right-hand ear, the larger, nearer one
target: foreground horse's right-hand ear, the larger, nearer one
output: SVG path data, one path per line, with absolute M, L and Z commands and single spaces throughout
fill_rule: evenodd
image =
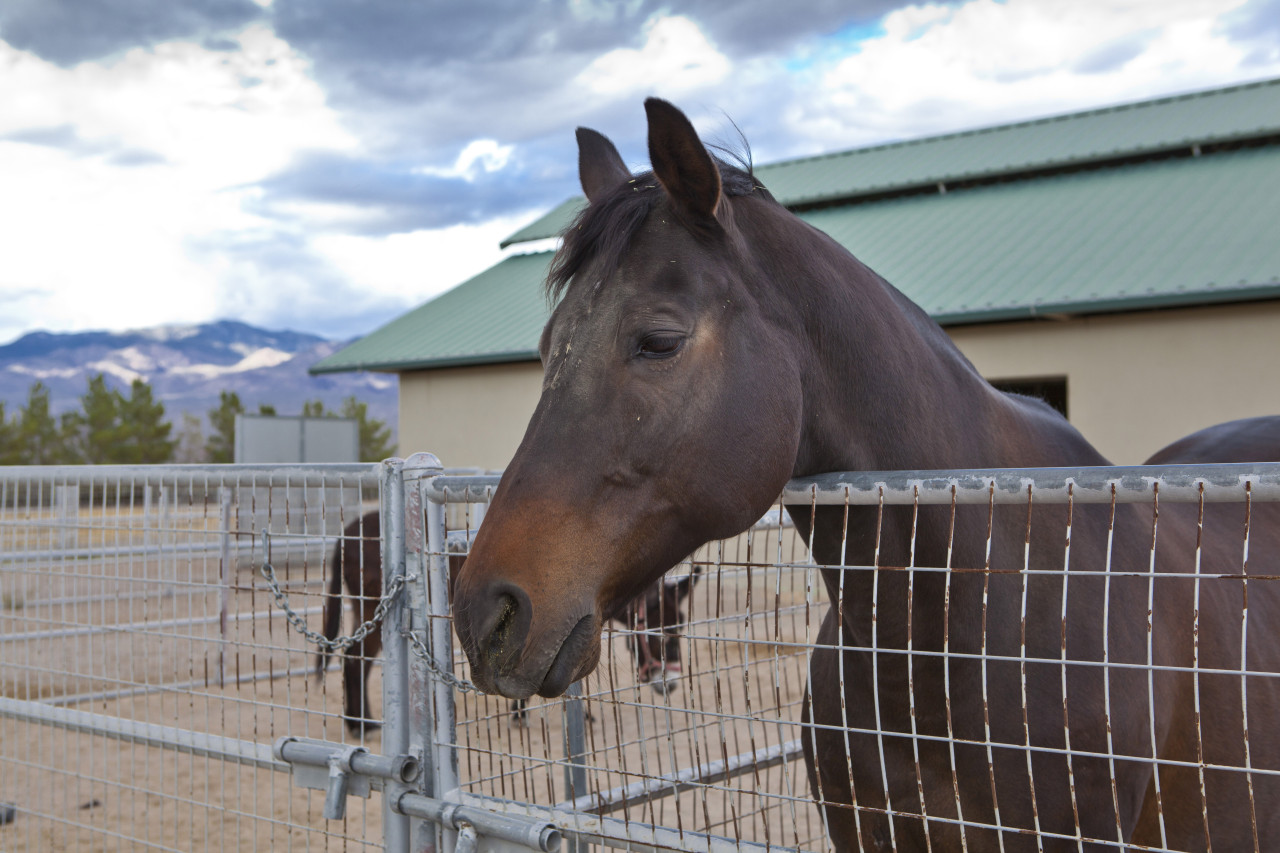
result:
M 678 109 L 657 97 L 644 102 L 649 117 L 649 161 L 673 201 L 704 220 L 713 220 L 721 200 L 719 168 Z

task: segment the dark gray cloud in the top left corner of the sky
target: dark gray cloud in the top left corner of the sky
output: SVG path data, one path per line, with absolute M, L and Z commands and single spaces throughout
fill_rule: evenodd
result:
M 0 38 L 63 67 L 262 17 L 251 0 L 5 0 Z

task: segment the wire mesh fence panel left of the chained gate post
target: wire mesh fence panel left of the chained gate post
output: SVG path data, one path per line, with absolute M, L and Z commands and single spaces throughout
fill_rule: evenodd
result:
M 351 735 L 260 574 L 319 626 L 380 492 L 376 465 L 0 469 L 0 849 L 381 849 L 376 800 L 326 821 L 278 772 L 275 738 Z

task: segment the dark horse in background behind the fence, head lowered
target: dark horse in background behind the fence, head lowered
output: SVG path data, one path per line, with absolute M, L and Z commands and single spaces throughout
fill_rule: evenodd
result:
M 367 512 L 347 525 L 329 561 L 329 587 L 324 602 L 324 635 L 338 637 L 342 628 L 342 587 L 346 583 L 351 610 L 358 625 L 374 617 L 383 594 L 383 552 L 379 538 L 379 514 Z M 449 574 L 457 576 L 465 555 L 449 557 Z M 685 622 L 682 605 L 692 590 L 701 566 L 681 578 L 659 578 L 634 598 L 618 616 L 627 635 L 627 647 L 635 657 L 636 680 L 666 694 L 678 683 L 681 674 L 680 631 Z M 348 647 L 342 656 L 343 721 L 352 734 L 376 730 L 379 724 L 369 704 L 369 670 L 383 649 L 381 631 Z M 316 675 L 329 666 L 329 652 L 316 656 Z M 517 721 L 525 719 L 525 702 L 512 703 Z

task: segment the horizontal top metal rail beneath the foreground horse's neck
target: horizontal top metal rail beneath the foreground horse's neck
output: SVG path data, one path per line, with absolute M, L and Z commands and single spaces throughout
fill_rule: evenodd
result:
M 481 503 L 499 476 L 438 476 L 431 501 Z M 1024 503 L 1030 488 L 1038 503 L 1142 503 L 1155 487 L 1160 500 L 1210 503 L 1280 501 L 1280 462 L 1235 465 L 1135 465 L 1106 467 L 1000 467 L 954 471 L 844 471 L 796 478 L 782 489 L 783 503 L 876 506 L 910 503 Z

